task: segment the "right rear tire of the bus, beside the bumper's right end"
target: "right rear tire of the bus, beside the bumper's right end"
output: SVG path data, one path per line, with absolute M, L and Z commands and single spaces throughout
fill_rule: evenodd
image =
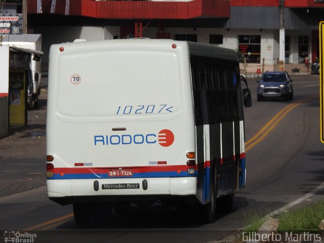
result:
M 212 179 L 211 179 L 211 200 L 208 204 L 205 204 L 202 208 L 203 216 L 202 220 L 204 223 L 213 223 L 216 220 L 216 180 L 215 180 L 215 170 L 212 171 Z

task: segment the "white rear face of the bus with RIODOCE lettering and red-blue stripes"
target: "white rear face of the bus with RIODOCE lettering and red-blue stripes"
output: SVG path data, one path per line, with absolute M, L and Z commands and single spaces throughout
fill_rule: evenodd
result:
M 53 45 L 47 186 L 61 205 L 195 196 L 186 42 Z

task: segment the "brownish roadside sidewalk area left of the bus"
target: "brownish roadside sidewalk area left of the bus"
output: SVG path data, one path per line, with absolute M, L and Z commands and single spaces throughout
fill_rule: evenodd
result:
M 38 103 L 28 110 L 26 127 L 10 128 L 0 139 L 0 197 L 46 185 L 46 88 Z

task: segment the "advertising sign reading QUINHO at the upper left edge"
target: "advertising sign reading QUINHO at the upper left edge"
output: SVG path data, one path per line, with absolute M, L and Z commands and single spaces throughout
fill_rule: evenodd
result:
M 22 14 L 0 14 L 0 35 L 22 34 Z

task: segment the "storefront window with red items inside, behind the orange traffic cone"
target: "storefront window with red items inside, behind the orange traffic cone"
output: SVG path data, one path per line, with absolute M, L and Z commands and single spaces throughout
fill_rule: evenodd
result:
M 238 35 L 238 51 L 247 62 L 260 62 L 261 35 Z

